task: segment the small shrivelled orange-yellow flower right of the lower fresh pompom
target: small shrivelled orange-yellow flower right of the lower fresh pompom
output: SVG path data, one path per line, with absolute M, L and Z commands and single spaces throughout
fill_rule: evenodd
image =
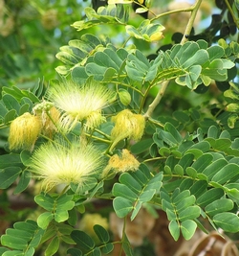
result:
M 111 156 L 108 165 L 103 171 L 102 176 L 107 175 L 111 170 L 115 173 L 124 173 L 128 171 L 137 171 L 141 163 L 135 158 L 130 151 L 124 149 L 121 155 L 114 154 Z

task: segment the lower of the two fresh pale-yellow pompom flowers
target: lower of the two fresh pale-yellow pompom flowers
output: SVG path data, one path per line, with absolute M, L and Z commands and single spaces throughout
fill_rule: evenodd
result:
M 97 174 L 103 162 L 101 152 L 91 144 L 77 141 L 69 146 L 55 141 L 33 152 L 30 168 L 36 178 L 42 179 L 43 187 L 51 190 L 60 184 L 82 186 L 88 176 Z

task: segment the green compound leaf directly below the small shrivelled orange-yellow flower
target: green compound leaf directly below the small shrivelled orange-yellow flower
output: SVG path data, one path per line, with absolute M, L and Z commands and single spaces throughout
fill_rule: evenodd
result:
M 116 214 L 123 218 L 131 211 L 131 220 L 137 216 L 143 202 L 150 201 L 162 186 L 163 174 L 150 175 L 145 166 L 135 173 L 120 175 L 120 183 L 113 186 L 113 207 Z

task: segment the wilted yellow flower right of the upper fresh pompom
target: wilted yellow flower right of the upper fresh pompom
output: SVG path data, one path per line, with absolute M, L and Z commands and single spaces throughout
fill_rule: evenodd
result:
M 141 139 L 145 128 L 145 119 L 141 114 L 133 114 L 130 110 L 124 109 L 112 117 L 112 121 L 115 123 L 115 127 L 111 131 L 114 140 L 111 149 L 122 139 Z

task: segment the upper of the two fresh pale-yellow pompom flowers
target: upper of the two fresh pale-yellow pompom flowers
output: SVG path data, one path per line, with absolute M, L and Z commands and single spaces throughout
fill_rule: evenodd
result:
M 108 88 L 97 83 L 79 86 L 74 82 L 61 83 L 50 87 L 49 99 L 63 111 L 60 118 L 62 128 L 71 130 L 78 121 L 85 121 L 86 128 L 97 128 L 105 121 L 102 108 L 113 98 Z

